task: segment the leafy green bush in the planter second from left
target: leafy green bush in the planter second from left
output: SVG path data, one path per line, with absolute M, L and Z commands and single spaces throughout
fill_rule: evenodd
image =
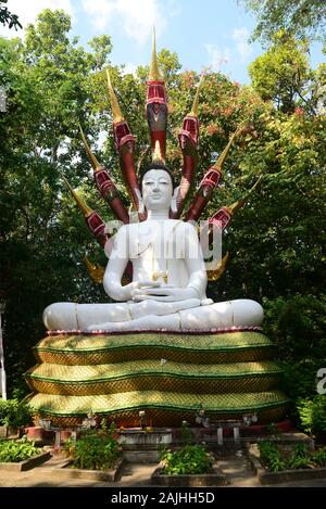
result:
M 73 458 L 76 469 L 106 470 L 114 466 L 121 454 L 121 447 L 114 438 L 115 427 L 109 430 L 89 430 L 83 432 L 76 441 L 64 444 L 65 451 Z

